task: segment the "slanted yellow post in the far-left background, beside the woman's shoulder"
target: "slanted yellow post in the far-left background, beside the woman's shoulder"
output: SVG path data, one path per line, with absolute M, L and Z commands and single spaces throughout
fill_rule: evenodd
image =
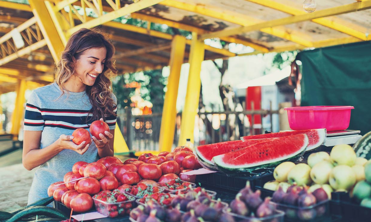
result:
M 18 139 L 20 122 L 23 117 L 23 104 L 25 101 L 24 92 L 26 91 L 26 80 L 19 80 L 17 86 L 17 97 L 15 101 L 15 108 L 12 114 L 12 129 L 13 140 Z

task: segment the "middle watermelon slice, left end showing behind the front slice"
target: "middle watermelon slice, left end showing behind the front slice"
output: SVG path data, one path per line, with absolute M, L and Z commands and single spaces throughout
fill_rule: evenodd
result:
M 269 138 L 272 139 L 272 138 Z M 198 162 L 207 169 L 217 170 L 218 168 L 211 161 L 213 157 L 227 152 L 236 151 L 259 142 L 268 141 L 269 139 L 249 139 L 247 141 L 234 140 L 227 142 L 218 142 L 214 144 L 201 145 L 196 147 L 195 153 Z

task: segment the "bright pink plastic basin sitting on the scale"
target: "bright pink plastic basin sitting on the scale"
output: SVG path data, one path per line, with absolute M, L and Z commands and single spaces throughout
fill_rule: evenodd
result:
M 352 106 L 288 107 L 289 125 L 293 130 L 320 129 L 343 130 L 349 127 Z

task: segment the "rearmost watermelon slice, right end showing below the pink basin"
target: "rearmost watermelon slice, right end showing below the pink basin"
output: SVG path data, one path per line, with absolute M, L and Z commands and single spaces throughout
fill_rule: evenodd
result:
M 306 129 L 306 130 L 294 130 L 294 131 L 285 131 L 285 132 L 273 132 L 267 134 L 260 134 L 260 135 L 252 135 L 241 137 L 241 140 L 245 141 L 248 139 L 266 139 L 266 138 L 278 138 L 278 137 L 286 137 L 290 135 L 297 135 L 297 134 L 306 134 L 309 139 L 309 144 L 306 150 L 312 150 L 325 142 L 326 138 L 326 129 Z

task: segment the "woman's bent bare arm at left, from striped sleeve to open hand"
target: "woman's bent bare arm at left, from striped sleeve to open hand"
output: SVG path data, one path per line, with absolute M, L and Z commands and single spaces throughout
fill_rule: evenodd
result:
M 24 131 L 22 164 L 27 170 L 32 170 L 44 164 L 63 149 L 72 149 L 82 155 L 89 147 L 89 144 L 86 146 L 84 144 L 74 144 L 70 141 L 73 138 L 72 136 L 60 135 L 55 142 L 40 149 L 41 133 L 42 131 Z

